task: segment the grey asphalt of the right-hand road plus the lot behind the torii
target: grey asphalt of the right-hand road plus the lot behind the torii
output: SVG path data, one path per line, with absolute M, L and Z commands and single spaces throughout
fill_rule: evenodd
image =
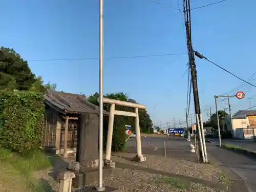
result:
M 197 161 L 196 155 L 190 152 L 190 142 L 177 136 L 170 138 L 141 137 L 142 154 L 164 156 L 164 141 L 166 144 L 166 157 Z M 256 142 L 254 143 L 256 144 Z M 246 188 L 248 188 L 249 192 L 256 192 L 256 158 L 220 148 L 216 146 L 217 144 L 218 142 L 207 143 L 208 159 L 211 161 L 210 158 L 212 158 L 212 160 L 215 159 L 216 162 L 219 162 L 218 165 L 222 166 L 222 170 L 224 169 L 229 179 L 232 179 L 234 190 L 231 189 L 231 191 L 246 191 Z M 251 144 L 244 142 L 242 145 L 248 146 Z M 126 148 L 129 152 L 136 153 L 136 138 L 130 138 Z

